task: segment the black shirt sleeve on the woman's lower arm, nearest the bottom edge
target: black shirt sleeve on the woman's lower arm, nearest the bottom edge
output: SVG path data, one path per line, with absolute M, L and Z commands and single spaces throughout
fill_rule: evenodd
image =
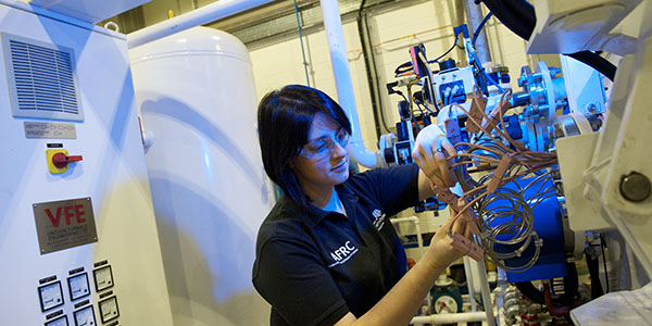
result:
M 313 248 L 272 238 L 260 249 L 253 285 L 290 325 L 334 325 L 349 309 Z

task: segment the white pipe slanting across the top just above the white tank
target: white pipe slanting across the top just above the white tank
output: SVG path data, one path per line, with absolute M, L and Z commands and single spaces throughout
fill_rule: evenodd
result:
M 175 33 L 208 24 L 267 2 L 272 2 L 272 0 L 222 0 L 213 2 L 200 9 L 127 35 L 127 47 L 129 49 L 136 48 Z

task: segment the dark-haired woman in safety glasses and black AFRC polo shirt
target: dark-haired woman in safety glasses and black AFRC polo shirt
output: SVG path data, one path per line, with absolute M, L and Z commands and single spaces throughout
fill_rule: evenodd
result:
M 261 225 L 253 266 L 271 325 L 408 325 L 437 276 L 463 254 L 437 233 L 405 273 L 388 216 L 432 196 L 432 183 L 454 185 L 441 152 L 454 148 L 432 126 L 415 142 L 421 168 L 349 176 L 351 126 L 324 92 L 286 86 L 265 96 L 258 118 L 265 171 L 284 190 Z M 467 235 L 462 223 L 453 230 Z

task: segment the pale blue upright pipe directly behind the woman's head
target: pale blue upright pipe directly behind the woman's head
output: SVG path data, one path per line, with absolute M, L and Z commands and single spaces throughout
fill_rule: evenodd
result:
M 337 1 L 333 0 L 319 0 L 319 3 L 322 4 L 324 27 L 326 28 L 326 38 L 328 39 L 328 50 L 330 52 L 330 64 L 333 65 L 335 87 L 337 88 L 337 99 L 351 121 L 351 142 L 349 147 L 351 158 L 366 167 L 383 165 L 384 161 L 380 152 L 368 150 L 362 141 L 339 7 Z

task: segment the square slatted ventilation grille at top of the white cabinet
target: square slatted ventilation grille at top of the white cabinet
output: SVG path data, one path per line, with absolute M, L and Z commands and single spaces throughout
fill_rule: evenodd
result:
M 83 121 L 72 49 L 3 38 L 13 115 Z

